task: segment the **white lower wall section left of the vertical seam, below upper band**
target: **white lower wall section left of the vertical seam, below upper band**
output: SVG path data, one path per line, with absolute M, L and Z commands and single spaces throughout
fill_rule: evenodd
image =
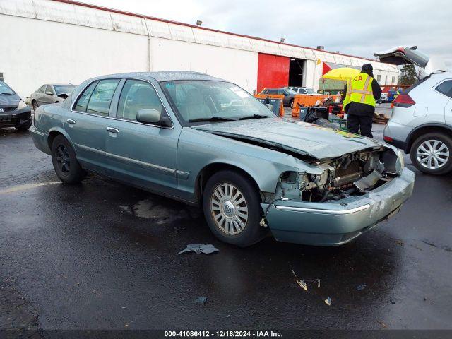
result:
M 148 69 L 143 35 L 1 14 L 0 32 L 11 32 L 0 36 L 0 73 L 24 99 L 44 83 Z

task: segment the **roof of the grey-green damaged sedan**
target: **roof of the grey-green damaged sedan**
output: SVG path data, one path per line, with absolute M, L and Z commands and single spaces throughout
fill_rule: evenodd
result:
M 109 74 L 107 76 L 98 76 L 91 80 L 103 78 L 153 78 L 155 81 L 173 81 L 173 80 L 213 80 L 225 81 L 221 78 L 209 76 L 206 73 L 189 72 L 189 71 L 159 71 L 159 72 L 132 72 L 132 73 L 117 73 Z

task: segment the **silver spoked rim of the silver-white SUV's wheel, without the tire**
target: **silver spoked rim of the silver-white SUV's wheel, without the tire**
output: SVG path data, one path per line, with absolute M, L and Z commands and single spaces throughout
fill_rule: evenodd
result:
M 416 158 L 422 167 L 439 169 L 449 160 L 447 145 L 439 140 L 427 140 L 421 143 L 416 150 Z

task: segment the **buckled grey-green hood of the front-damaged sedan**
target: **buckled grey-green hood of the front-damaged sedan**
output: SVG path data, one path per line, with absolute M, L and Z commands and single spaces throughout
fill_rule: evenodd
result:
M 251 141 L 276 146 L 319 160 L 340 157 L 366 148 L 380 148 L 385 145 L 356 134 L 279 118 L 228 121 L 203 124 L 192 128 L 244 142 Z

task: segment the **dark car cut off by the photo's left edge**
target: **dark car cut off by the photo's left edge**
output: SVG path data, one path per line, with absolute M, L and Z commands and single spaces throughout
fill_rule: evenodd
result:
M 25 131 L 32 125 L 31 107 L 0 80 L 0 128 L 16 127 Z

